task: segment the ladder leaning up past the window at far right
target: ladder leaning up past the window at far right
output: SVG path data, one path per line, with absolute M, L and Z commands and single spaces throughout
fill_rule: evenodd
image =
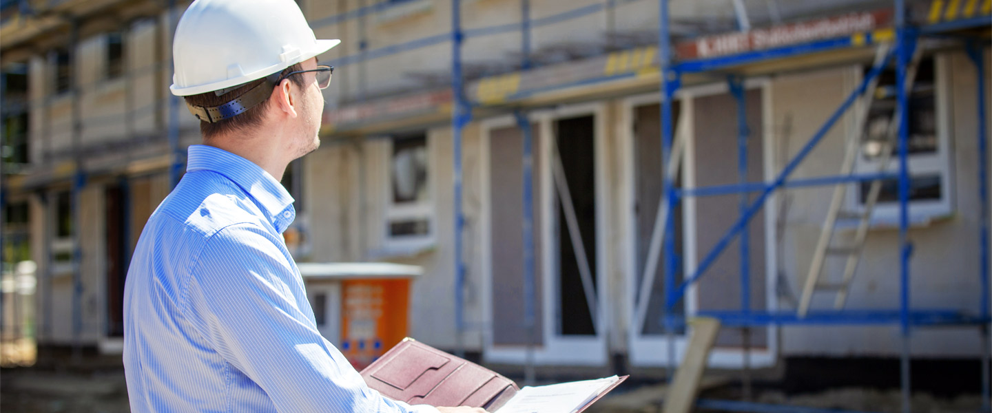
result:
M 907 67 L 906 84 L 903 86 L 907 89 L 912 88 L 916 78 L 917 67 L 919 66 L 920 60 L 923 56 L 922 49 L 923 48 L 917 48 L 917 51 L 914 52 L 910 65 Z M 885 59 L 888 52 L 888 45 L 880 46 L 875 54 L 874 65 L 881 63 L 881 59 Z M 855 118 L 855 132 L 848 136 L 846 142 L 844 159 L 840 166 L 841 175 L 848 175 L 854 170 L 855 159 L 859 155 L 858 150 L 861 148 L 861 138 L 864 135 L 865 123 L 868 119 L 868 112 L 871 108 L 872 101 L 876 96 L 879 96 L 879 94 L 883 92 L 883 90 L 878 89 L 877 86 L 878 77 L 870 82 L 865 94 L 861 96 L 861 106 L 859 107 L 857 118 Z M 899 131 L 899 124 L 899 112 L 895 111 L 895 114 L 891 118 L 891 122 L 889 122 L 888 129 L 884 135 L 885 139 L 879 142 L 881 145 L 881 155 L 878 157 L 879 173 L 885 172 L 888 168 L 889 160 L 892 157 L 892 148 L 895 142 L 895 137 Z M 833 307 L 835 309 L 842 308 L 844 303 L 847 301 L 847 293 L 851 285 L 851 281 L 854 279 L 854 272 L 857 270 L 858 262 L 861 259 L 861 253 L 865 246 L 865 239 L 868 236 L 868 227 L 870 226 L 872 211 L 875 209 L 875 204 L 878 202 L 879 194 L 882 192 L 882 180 L 876 179 L 871 182 L 868 196 L 865 198 L 864 208 L 861 211 L 851 212 L 841 210 L 846 192 L 847 186 L 845 183 L 838 183 L 833 189 L 833 197 L 830 199 L 830 206 L 826 213 L 826 221 L 823 222 L 819 239 L 816 242 L 816 250 L 813 253 L 812 261 L 809 264 L 809 272 L 806 276 L 806 284 L 803 288 L 803 297 L 800 301 L 798 311 L 799 317 L 806 317 L 806 313 L 809 310 L 809 304 L 812 301 L 812 294 L 816 290 L 836 291 L 837 295 L 833 303 Z M 833 233 L 839 218 L 856 219 L 858 222 L 857 230 L 854 234 L 854 241 L 850 245 L 839 247 L 833 245 Z M 819 280 L 819 277 L 823 272 L 823 262 L 827 256 L 847 258 L 847 263 L 844 266 L 844 274 L 840 282 L 823 282 Z

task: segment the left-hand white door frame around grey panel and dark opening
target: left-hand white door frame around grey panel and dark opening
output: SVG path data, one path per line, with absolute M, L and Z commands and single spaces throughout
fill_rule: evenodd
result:
M 553 122 L 561 118 L 592 115 L 594 117 L 594 148 L 595 154 L 595 182 L 596 182 L 596 284 L 599 286 L 596 291 L 597 312 L 593 315 L 596 318 L 596 335 L 588 337 L 564 337 L 558 334 L 556 288 L 558 274 L 558 248 L 555 240 L 555 229 L 557 228 L 557 217 L 555 203 L 555 183 L 552 176 L 552 140 L 554 138 Z M 605 187 L 606 179 L 606 104 L 604 102 L 586 103 L 578 105 L 562 106 L 558 109 L 532 111 L 529 119 L 532 124 L 537 125 L 541 140 L 536 142 L 540 145 L 540 151 L 535 155 L 540 155 L 538 164 L 541 167 L 541 180 L 536 186 L 536 194 L 541 200 L 540 214 L 546 217 L 542 220 L 542 226 L 537 228 L 540 234 L 540 242 L 545 247 L 542 255 L 535 257 L 535 263 L 542 268 L 542 300 L 543 308 L 538 309 L 537 316 L 542 317 L 544 343 L 535 346 L 534 362 L 537 364 L 567 364 L 567 365 L 605 365 L 607 363 L 607 329 L 606 321 L 608 306 L 607 297 L 607 258 L 606 258 L 606 237 L 604 224 L 609 217 L 608 191 Z M 482 161 L 482 216 L 483 220 L 483 283 L 485 291 L 492 291 L 492 256 L 489 235 L 492 233 L 491 215 L 491 195 L 489 179 L 492 173 L 489 164 L 489 148 L 491 145 L 491 132 L 494 129 L 516 126 L 516 121 L 512 116 L 501 116 L 497 118 L 481 121 L 481 145 L 480 160 Z M 537 170 L 535 171 L 537 172 Z M 523 202 L 521 200 L 521 202 Z M 526 346 L 494 346 L 493 345 L 493 314 L 494 314 L 492 294 L 484 294 L 483 316 L 486 320 L 485 335 L 483 339 L 483 360 L 488 362 L 523 363 L 527 360 Z

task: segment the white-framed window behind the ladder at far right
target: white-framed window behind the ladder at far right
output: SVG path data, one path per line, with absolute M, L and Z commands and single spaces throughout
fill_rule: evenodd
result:
M 910 217 L 928 222 L 951 213 L 952 194 L 949 168 L 950 122 L 946 60 L 940 56 L 921 60 L 909 100 Z M 867 73 L 866 68 L 864 73 Z M 861 154 L 856 163 L 859 173 L 899 171 L 897 141 L 890 141 L 896 110 L 896 72 L 888 68 L 879 76 L 875 99 L 868 110 L 862 135 Z M 888 154 L 886 154 L 888 152 Z M 886 161 L 886 157 L 888 160 Z M 883 164 L 886 163 L 886 164 Z M 871 182 L 853 185 L 849 196 L 856 210 L 863 210 Z M 899 181 L 882 181 L 878 203 L 872 212 L 875 224 L 895 223 L 899 217 Z

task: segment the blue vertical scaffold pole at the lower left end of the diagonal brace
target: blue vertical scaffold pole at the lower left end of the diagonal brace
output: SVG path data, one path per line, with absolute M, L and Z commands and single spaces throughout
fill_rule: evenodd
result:
M 660 73 L 661 73 L 661 117 L 662 117 L 662 159 L 668 161 L 671 159 L 672 153 L 672 140 L 673 140 L 673 125 L 672 125 L 672 106 L 673 98 L 675 97 L 676 89 L 678 87 L 679 74 L 674 70 L 672 65 L 672 39 L 669 36 L 669 0 L 659 0 L 659 30 L 658 30 L 658 55 L 660 61 Z M 668 375 L 668 381 L 672 382 L 672 378 L 675 376 L 676 369 L 676 349 L 675 349 L 675 332 L 674 326 L 671 319 L 672 309 L 675 308 L 675 295 L 672 293 L 676 286 L 676 271 L 678 270 L 678 263 L 675 252 L 675 226 L 674 219 L 676 205 L 679 202 L 676 199 L 676 191 L 674 185 L 674 175 L 678 175 L 678 170 L 669 170 L 669 168 L 664 168 L 664 177 L 662 179 L 662 191 L 664 202 L 669 206 L 669 214 L 665 223 L 665 234 L 662 236 L 662 241 L 664 245 L 664 257 L 665 257 L 665 302 L 662 306 L 662 320 L 663 320 L 663 330 L 665 331 L 666 337 L 666 347 L 668 348 L 668 368 L 666 368 L 666 373 Z

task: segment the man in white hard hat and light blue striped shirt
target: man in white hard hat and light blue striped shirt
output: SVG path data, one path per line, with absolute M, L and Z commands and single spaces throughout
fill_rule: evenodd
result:
M 282 233 L 287 164 L 315 150 L 332 68 L 292 0 L 198 0 L 176 30 L 171 89 L 200 120 L 186 176 L 152 214 L 125 288 L 135 412 L 483 412 L 369 389 L 316 330 Z

